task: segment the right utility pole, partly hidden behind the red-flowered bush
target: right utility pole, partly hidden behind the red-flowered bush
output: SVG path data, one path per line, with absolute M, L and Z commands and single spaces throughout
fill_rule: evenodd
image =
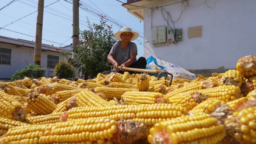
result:
M 79 42 L 79 0 L 73 0 L 73 43 L 72 49 L 76 49 Z M 74 54 L 72 52 L 72 58 Z M 77 61 L 77 59 L 75 59 Z M 74 69 L 74 76 L 79 77 L 77 68 Z

